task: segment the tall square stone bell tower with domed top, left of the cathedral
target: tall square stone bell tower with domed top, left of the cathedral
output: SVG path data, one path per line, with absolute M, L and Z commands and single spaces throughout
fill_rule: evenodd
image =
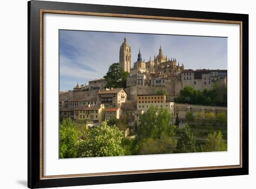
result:
M 124 71 L 130 72 L 131 69 L 131 47 L 124 38 L 124 42 L 120 46 L 119 63 Z

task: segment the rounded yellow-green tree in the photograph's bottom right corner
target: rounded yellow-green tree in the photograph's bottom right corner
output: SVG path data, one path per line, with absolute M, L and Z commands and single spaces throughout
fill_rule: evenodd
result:
M 222 138 L 222 132 L 209 133 L 202 151 L 227 151 L 227 143 Z

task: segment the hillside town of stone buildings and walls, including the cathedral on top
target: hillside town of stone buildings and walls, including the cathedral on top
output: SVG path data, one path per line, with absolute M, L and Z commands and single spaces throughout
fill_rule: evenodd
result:
M 173 123 L 179 120 L 179 128 L 185 126 L 188 112 L 201 112 L 202 119 L 209 112 L 215 116 L 220 112 L 227 113 L 227 106 L 176 100 L 184 88 L 203 91 L 214 89 L 216 84 L 227 85 L 226 69 L 185 69 L 184 63 L 164 55 L 161 45 L 157 56 L 147 57 L 148 61 L 142 58 L 141 49 L 138 49 L 135 63 L 131 62 L 131 56 L 131 47 L 124 38 L 119 51 L 119 64 L 128 72 L 126 88 L 106 88 L 108 82 L 102 76 L 88 84 L 77 83 L 73 89 L 60 92 L 60 122 L 70 118 L 84 121 L 90 128 L 100 126 L 104 120 L 123 118 L 127 125 L 123 133 L 128 137 L 140 129 L 141 115 L 152 105 L 168 110 Z

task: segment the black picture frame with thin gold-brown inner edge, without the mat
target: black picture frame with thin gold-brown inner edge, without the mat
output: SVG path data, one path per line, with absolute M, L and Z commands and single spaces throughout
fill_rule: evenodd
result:
M 44 14 L 236 24 L 239 47 L 239 158 L 236 165 L 44 175 Z M 28 187 L 47 188 L 249 174 L 249 15 L 50 1 L 28 2 Z M 57 102 L 59 103 L 59 102 Z M 237 102 L 236 102 L 237 103 Z M 243 115 L 243 116 L 242 116 Z M 58 136 L 56 136 L 57 138 Z M 110 157 L 111 158 L 111 157 Z

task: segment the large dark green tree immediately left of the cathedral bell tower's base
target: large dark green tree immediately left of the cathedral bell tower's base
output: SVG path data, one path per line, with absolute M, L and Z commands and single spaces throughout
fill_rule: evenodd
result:
M 105 88 L 126 88 L 128 72 L 124 72 L 119 63 L 113 63 L 109 66 L 106 76 Z

